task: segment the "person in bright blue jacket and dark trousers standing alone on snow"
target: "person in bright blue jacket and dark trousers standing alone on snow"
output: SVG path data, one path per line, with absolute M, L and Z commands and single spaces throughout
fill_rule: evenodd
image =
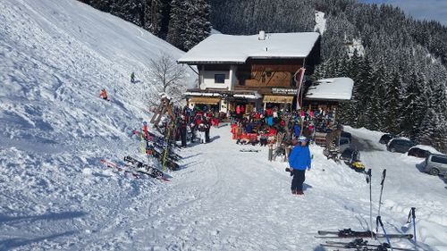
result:
M 293 147 L 289 156 L 289 165 L 293 179 L 291 180 L 291 193 L 303 195 L 303 183 L 306 180 L 306 169 L 310 171 L 311 158 L 308 149 L 308 138 L 300 136 L 298 145 Z

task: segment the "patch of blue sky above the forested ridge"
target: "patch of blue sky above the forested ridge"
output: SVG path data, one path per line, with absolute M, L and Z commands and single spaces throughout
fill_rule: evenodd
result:
M 419 20 L 440 21 L 447 26 L 447 0 L 359 0 L 363 3 L 392 4 Z

